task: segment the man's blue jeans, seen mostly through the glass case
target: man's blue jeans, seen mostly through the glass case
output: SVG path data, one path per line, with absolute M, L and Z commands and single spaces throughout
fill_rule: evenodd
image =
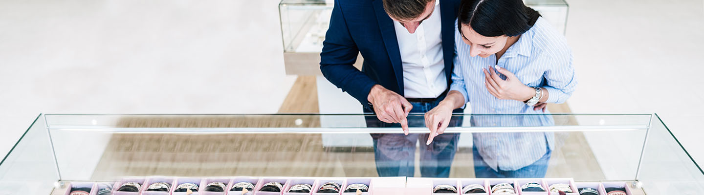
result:
M 444 97 L 443 97 L 444 98 Z M 411 113 L 426 113 L 435 108 L 436 102 L 410 102 L 413 105 Z M 373 113 L 364 109 L 367 113 Z M 462 109 L 453 111 L 462 113 Z M 401 127 L 399 124 L 382 122 L 375 115 L 365 117 L 367 127 Z M 448 127 L 462 125 L 461 116 L 453 116 Z M 425 127 L 423 115 L 408 115 L 409 127 Z M 398 130 L 401 132 L 401 130 Z M 420 175 L 422 177 L 449 177 L 450 167 L 457 151 L 457 141 L 460 134 L 440 134 L 426 145 L 428 134 L 372 134 L 374 139 L 374 154 L 379 177 L 413 177 L 415 172 L 415 146 L 420 140 Z

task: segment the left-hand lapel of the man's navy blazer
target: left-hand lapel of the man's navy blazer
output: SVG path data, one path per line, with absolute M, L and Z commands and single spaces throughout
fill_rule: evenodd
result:
M 372 1 L 372 4 L 377 14 L 377 23 L 379 24 L 379 30 L 382 32 L 384 46 L 386 46 L 386 51 L 389 52 L 389 59 L 391 60 L 391 65 L 394 67 L 394 75 L 396 75 L 396 82 L 398 83 L 398 93 L 403 96 L 403 65 L 401 64 L 401 50 L 398 49 L 396 30 L 394 30 L 394 20 L 391 20 L 389 15 L 386 14 L 386 11 L 384 11 L 382 0 Z

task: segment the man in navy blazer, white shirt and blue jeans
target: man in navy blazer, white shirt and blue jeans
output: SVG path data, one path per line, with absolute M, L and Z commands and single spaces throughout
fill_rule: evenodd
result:
M 407 116 L 429 111 L 446 95 L 453 70 L 459 2 L 336 0 L 334 3 L 320 54 L 322 74 L 358 99 L 365 113 L 376 114 L 373 120 L 367 118 L 367 126 L 400 125 L 406 134 L 372 134 L 379 176 L 413 177 L 415 141 L 421 139 L 425 143 L 428 136 L 409 135 Z M 364 58 L 362 71 L 353 66 L 358 54 Z M 411 126 L 425 127 L 422 116 L 416 119 L 410 120 Z M 435 140 L 432 145 L 429 141 L 421 144 L 421 174 L 448 177 L 458 134 L 441 134 Z

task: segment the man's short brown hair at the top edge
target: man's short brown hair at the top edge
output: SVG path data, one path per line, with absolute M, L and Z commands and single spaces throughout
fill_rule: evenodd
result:
M 411 20 L 418 18 L 423 11 L 425 11 L 425 6 L 428 5 L 430 1 L 433 0 L 383 0 L 384 10 L 386 13 L 391 15 L 391 17 L 398 20 Z

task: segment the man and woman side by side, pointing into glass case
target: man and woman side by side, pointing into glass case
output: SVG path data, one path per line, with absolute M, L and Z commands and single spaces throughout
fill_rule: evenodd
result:
M 358 54 L 361 71 L 353 66 Z M 465 103 L 475 114 L 542 114 L 577 84 L 565 38 L 521 0 L 336 0 L 320 58 L 327 80 L 376 114 L 367 126 L 403 130 L 372 134 L 382 177 L 413 177 L 418 140 L 421 175 L 448 177 L 459 134 L 444 130 L 462 121 L 452 113 Z M 552 123 L 544 115 L 471 122 Z M 409 125 L 431 133 L 408 134 Z M 544 177 L 553 139 L 549 132 L 475 133 L 476 176 Z

